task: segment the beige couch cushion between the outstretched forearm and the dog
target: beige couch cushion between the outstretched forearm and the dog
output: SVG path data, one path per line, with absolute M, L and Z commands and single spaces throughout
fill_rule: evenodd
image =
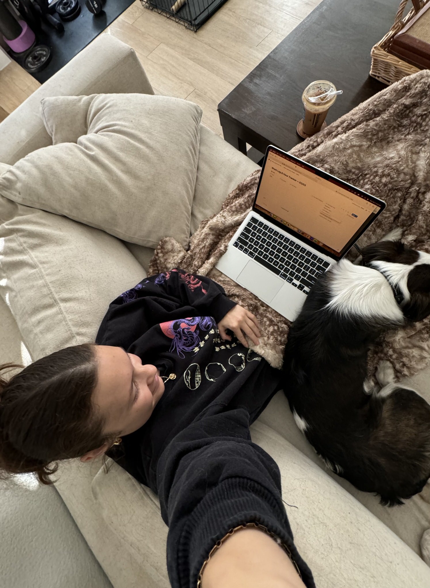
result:
M 251 427 L 251 437 L 280 468 L 294 540 L 317 586 L 430 585 L 426 564 L 303 453 L 259 422 Z

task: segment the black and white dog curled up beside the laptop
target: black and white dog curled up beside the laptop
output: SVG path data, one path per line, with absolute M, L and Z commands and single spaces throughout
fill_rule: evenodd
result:
M 284 390 L 299 429 L 325 463 L 385 505 L 430 478 L 430 405 L 395 383 L 382 362 L 367 378 L 367 352 L 388 329 L 430 314 L 430 255 L 398 240 L 362 249 L 315 283 L 291 326 Z

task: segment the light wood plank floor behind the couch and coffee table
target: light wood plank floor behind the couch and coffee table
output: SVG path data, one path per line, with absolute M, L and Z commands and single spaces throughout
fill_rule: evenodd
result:
M 199 31 L 136 0 L 103 34 L 135 49 L 154 92 L 199 104 L 222 136 L 217 105 L 321 0 L 228 0 Z M 0 121 L 39 83 L 18 64 L 0 71 Z

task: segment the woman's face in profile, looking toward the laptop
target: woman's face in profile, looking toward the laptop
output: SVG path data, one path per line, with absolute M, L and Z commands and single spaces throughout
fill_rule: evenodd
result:
M 103 433 L 129 435 L 151 416 L 163 396 L 164 382 L 155 366 L 143 365 L 121 347 L 96 345 L 95 350 L 98 383 L 92 400 L 105 416 Z

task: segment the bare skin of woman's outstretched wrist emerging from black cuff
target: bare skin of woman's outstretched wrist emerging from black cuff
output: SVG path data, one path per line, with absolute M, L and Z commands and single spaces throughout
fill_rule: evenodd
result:
M 239 527 L 204 565 L 201 588 L 304 588 L 283 547 L 263 527 Z

